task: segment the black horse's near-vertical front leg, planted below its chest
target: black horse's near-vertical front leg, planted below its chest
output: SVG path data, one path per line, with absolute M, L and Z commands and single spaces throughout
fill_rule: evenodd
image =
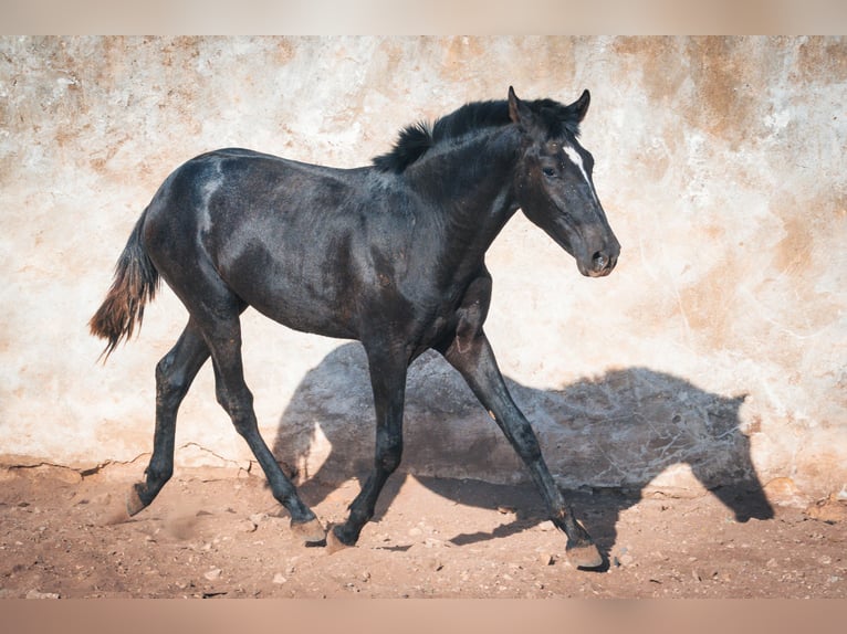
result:
M 368 349 L 367 352 L 376 409 L 374 468 L 351 504 L 347 521 L 334 527 L 332 535 L 327 536 L 328 546 L 333 537 L 343 546 L 356 543 L 362 528 L 374 517 L 383 486 L 402 457 L 402 408 L 408 361 L 395 358 L 381 349 Z

